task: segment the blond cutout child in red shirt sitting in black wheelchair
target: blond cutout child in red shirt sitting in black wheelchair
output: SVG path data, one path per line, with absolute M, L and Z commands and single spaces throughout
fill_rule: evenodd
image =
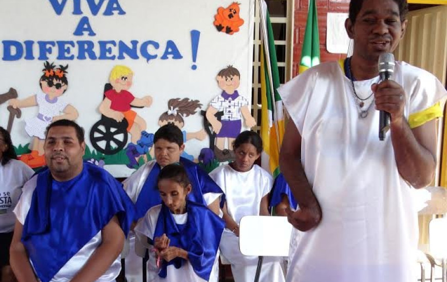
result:
M 90 131 L 90 142 L 101 153 L 112 155 L 123 149 L 127 143 L 127 132 L 134 144 L 147 135 L 145 120 L 131 107 L 150 107 L 152 97 L 136 98 L 128 91 L 133 75 L 126 66 L 115 66 L 110 72 L 110 84 L 105 85 L 104 99 L 99 106 L 101 120 Z

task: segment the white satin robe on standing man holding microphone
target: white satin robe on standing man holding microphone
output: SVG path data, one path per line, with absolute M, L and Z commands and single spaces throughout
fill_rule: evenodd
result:
M 446 96 L 432 74 L 406 63 L 396 62 L 394 80 L 405 90 L 407 118 Z M 376 81 L 355 82 L 357 93 L 367 96 Z M 390 133 L 378 138 L 379 111 L 373 105 L 359 117 L 337 62 L 311 68 L 278 91 L 302 136 L 301 163 L 323 212 L 315 229 L 294 229 L 286 280 L 413 281 L 413 188 L 397 170 Z

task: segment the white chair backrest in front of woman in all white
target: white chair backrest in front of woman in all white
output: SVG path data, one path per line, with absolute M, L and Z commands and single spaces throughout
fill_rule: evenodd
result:
M 244 216 L 239 223 L 240 252 L 253 256 L 288 256 L 292 228 L 284 216 Z

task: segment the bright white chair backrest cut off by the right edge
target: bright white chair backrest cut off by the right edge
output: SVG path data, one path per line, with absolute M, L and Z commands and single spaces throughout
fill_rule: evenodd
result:
M 430 254 L 435 258 L 447 258 L 447 218 L 430 221 Z

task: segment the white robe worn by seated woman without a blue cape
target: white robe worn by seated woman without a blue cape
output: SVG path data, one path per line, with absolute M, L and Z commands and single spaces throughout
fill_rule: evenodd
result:
M 220 166 L 210 173 L 211 178 L 224 191 L 229 215 L 236 223 L 246 215 L 259 215 L 261 199 L 272 189 L 272 176 L 254 165 L 248 172 L 238 172 L 230 165 Z M 235 282 L 252 282 L 256 274 L 258 257 L 245 256 L 239 250 L 239 238 L 224 229 L 220 252 L 231 264 Z M 282 282 L 284 274 L 280 257 L 264 257 L 259 282 Z

